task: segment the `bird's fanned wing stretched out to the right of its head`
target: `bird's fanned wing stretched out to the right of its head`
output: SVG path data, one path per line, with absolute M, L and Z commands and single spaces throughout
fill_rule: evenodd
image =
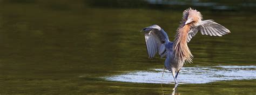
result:
M 202 35 L 223 36 L 230 33 L 224 26 L 213 22 L 213 20 L 201 21 L 196 27 L 192 28 L 187 35 L 187 43 L 200 31 Z

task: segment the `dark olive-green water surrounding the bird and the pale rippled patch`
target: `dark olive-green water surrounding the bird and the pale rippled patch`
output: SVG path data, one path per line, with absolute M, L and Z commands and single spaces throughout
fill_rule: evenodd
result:
M 162 69 L 147 59 L 146 26 L 173 40 L 184 9 L 91 7 L 85 2 L 0 1 L 0 94 L 171 94 L 173 84 L 110 82 L 99 77 Z M 200 9 L 198 9 L 200 11 Z M 255 11 L 201 11 L 231 34 L 199 33 L 191 66 L 255 65 Z M 181 71 L 182 72 L 182 71 Z M 242 73 L 241 73 L 242 74 Z M 256 80 L 181 84 L 177 94 L 256 94 Z

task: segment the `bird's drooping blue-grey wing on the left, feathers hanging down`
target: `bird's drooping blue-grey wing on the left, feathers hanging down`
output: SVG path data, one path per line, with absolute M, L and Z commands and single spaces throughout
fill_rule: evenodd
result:
M 159 52 L 160 57 L 166 55 L 164 43 L 169 42 L 166 32 L 158 25 L 152 25 L 142 30 L 145 35 L 147 54 L 152 59 Z

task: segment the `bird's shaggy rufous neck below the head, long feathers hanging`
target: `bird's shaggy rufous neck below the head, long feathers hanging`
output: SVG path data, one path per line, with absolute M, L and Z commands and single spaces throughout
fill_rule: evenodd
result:
M 180 26 L 174 39 L 173 54 L 179 60 L 192 62 L 193 55 L 187 46 L 187 35 L 190 31 L 190 25 Z

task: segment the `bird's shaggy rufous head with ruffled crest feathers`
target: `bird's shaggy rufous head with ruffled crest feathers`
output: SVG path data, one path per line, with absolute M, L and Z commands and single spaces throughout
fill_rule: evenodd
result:
M 203 19 L 201 13 L 192 8 L 188 8 L 183 11 L 183 21 L 185 25 L 196 25 Z

